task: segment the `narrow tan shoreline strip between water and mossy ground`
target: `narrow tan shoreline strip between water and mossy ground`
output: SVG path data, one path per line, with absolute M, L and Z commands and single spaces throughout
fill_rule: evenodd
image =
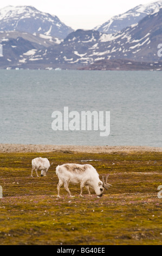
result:
M 0 144 L 0 153 L 47 153 L 51 151 L 111 154 L 115 152 L 162 152 L 162 147 Z

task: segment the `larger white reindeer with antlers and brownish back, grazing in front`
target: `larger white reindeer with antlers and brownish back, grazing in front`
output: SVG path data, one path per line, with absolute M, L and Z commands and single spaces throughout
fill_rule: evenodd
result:
M 60 197 L 60 187 L 64 184 L 64 188 L 69 193 L 70 197 L 73 197 L 69 191 L 69 183 L 78 184 L 80 183 L 81 193 L 80 196 L 83 197 L 83 187 L 85 186 L 88 190 L 93 188 L 98 197 L 102 197 L 104 189 L 108 190 L 108 187 L 112 186 L 107 183 L 108 176 L 102 176 L 102 181 L 99 179 L 99 174 L 96 169 L 90 164 L 74 164 L 67 163 L 62 164 L 62 166 L 56 167 L 56 174 L 59 178 L 59 184 L 57 185 L 58 195 Z

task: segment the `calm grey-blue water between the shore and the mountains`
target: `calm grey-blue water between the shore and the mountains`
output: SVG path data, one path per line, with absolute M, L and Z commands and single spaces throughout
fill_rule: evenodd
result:
M 162 73 L 0 70 L 0 143 L 161 147 Z M 53 131 L 51 114 L 110 111 L 111 133 Z

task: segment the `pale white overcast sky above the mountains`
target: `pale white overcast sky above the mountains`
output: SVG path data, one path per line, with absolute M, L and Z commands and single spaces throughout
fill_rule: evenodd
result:
M 110 17 L 125 13 L 139 5 L 157 1 L 149 0 L 5 0 L 0 8 L 7 5 L 32 5 L 40 11 L 57 15 L 73 29 L 92 29 L 106 22 Z

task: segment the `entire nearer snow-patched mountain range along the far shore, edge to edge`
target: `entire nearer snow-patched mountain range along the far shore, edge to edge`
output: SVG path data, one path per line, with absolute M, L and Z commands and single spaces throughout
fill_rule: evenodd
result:
M 158 45 L 162 42 L 162 9 L 159 8 L 114 34 L 78 29 L 60 44 L 47 35 L 43 35 L 47 39 L 41 42 L 40 35 L 30 35 L 0 32 L 1 68 L 162 70 L 162 58 L 158 56 Z

